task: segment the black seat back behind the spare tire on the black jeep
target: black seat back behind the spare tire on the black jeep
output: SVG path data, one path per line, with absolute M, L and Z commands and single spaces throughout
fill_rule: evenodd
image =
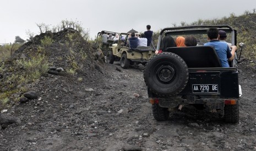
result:
M 214 68 L 221 67 L 220 59 L 214 47 L 170 47 L 165 52 L 175 53 L 182 57 L 188 68 Z

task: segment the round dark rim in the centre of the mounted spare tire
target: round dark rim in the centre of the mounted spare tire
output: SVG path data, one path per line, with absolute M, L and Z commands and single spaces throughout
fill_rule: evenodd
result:
M 161 66 L 157 69 L 157 79 L 162 83 L 171 83 L 175 77 L 175 69 L 171 66 Z

